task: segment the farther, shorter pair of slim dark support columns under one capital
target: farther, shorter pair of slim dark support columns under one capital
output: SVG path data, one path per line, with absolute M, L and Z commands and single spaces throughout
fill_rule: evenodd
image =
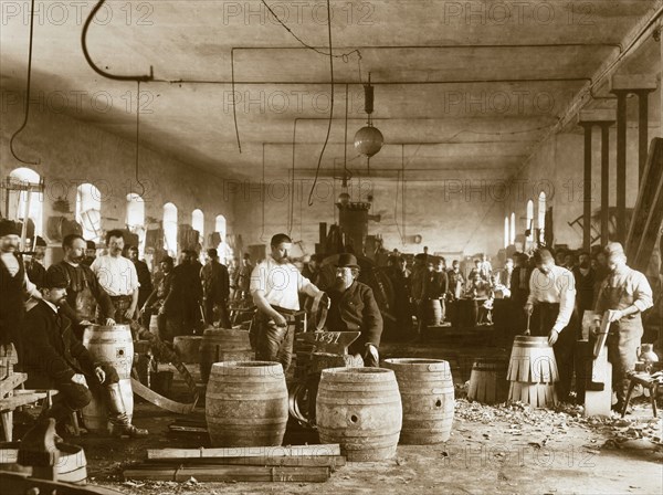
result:
M 610 127 L 614 125 L 614 110 L 582 110 L 578 124 L 585 128 L 585 176 L 582 212 L 582 249 L 591 249 L 591 204 L 593 202 L 591 181 L 592 129 L 601 128 L 601 245 L 608 243 L 610 221 Z

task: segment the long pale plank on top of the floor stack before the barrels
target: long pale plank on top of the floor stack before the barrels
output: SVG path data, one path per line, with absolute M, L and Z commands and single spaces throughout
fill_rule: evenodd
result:
M 147 459 L 211 459 L 211 457 L 287 457 L 313 455 L 340 455 L 337 443 L 293 446 L 238 446 L 224 449 L 148 449 Z

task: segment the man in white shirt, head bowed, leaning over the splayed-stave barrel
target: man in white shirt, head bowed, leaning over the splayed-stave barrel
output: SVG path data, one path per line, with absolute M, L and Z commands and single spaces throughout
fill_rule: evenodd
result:
M 560 401 L 568 400 L 573 376 L 573 349 L 578 340 L 577 324 L 571 324 L 576 303 L 573 274 L 555 264 L 547 249 L 534 253 L 536 268 L 529 277 L 529 297 L 525 312 L 532 318 L 533 336 L 547 336 L 554 347 L 559 371 L 557 392 Z

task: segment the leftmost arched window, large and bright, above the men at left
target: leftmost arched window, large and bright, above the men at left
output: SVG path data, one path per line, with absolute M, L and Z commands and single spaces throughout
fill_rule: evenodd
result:
M 34 170 L 21 167 L 9 173 L 10 182 L 17 190 L 9 190 L 9 218 L 15 218 L 23 222 L 25 209 L 28 208 L 28 190 L 35 189 L 41 183 L 41 177 Z M 30 192 L 30 211 L 28 218 L 34 223 L 34 235 L 42 235 L 43 223 L 43 192 Z M 30 236 L 28 232 L 28 236 Z

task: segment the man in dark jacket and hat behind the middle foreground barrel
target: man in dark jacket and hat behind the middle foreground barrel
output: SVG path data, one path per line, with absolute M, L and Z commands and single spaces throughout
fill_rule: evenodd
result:
M 348 351 L 361 355 L 365 366 L 378 367 L 382 316 L 372 289 L 357 281 L 359 265 L 352 254 L 341 254 L 336 265 L 336 283 L 329 289 L 332 305 L 327 314 L 329 331 L 361 331 Z

